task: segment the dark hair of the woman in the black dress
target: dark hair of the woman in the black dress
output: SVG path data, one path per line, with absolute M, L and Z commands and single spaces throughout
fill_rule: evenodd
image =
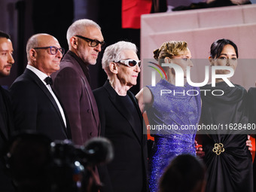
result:
M 211 45 L 210 56 L 212 56 L 212 59 L 218 58 L 221 55 L 221 51 L 223 50 L 224 46 L 227 44 L 233 46 L 233 48 L 236 51 L 236 57 L 238 58 L 238 50 L 236 44 L 233 43 L 233 41 L 230 41 L 229 39 L 221 38 L 214 41 Z

